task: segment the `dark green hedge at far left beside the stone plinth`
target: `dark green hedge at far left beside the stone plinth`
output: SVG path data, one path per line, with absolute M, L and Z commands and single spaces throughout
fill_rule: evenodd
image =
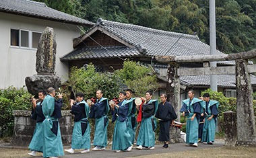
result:
M 13 131 L 13 110 L 29 110 L 31 108 L 30 93 L 24 88 L 8 87 L 0 90 L 0 136 L 10 136 Z

